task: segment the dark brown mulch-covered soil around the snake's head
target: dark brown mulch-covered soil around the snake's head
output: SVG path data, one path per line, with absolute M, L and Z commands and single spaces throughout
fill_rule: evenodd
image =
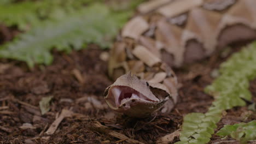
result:
M 0 37 L 1 43 L 10 40 L 12 34 L 9 35 L 8 39 Z M 239 47 L 231 51 L 237 51 Z M 136 119 L 114 113 L 104 102 L 104 89 L 112 83 L 107 76 L 107 61 L 100 58 L 106 52 L 96 45 L 69 54 L 53 51 L 52 65 L 39 65 L 33 69 L 28 69 L 24 62 L 1 59 L 0 142 L 131 143 L 125 141 L 127 138 L 120 140 L 114 136 L 123 134 L 140 142 L 155 143 L 160 137 L 180 129 L 187 113 L 207 111 L 213 98 L 205 94 L 203 88 L 214 80 L 212 71 L 228 57 L 215 53 L 203 62 L 174 69 L 181 83 L 176 107 L 170 113 Z M 255 89 L 256 80 L 250 86 L 254 101 Z M 39 101 L 49 96 L 53 97 L 50 110 L 42 115 Z M 256 119 L 248 105 L 226 111 L 216 131 L 224 124 Z M 63 118 L 60 125 L 53 124 L 60 117 Z M 49 127 L 57 129 L 49 130 Z M 175 137 L 173 143 L 177 141 L 178 137 Z M 210 143 L 220 141 L 223 140 L 213 135 Z M 229 138 L 222 143 L 237 142 Z

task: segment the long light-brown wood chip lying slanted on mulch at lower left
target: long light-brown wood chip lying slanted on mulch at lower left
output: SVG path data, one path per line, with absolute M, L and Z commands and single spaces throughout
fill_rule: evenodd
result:
M 72 111 L 63 109 L 63 110 L 61 111 L 60 116 L 59 116 L 57 119 L 55 119 L 55 121 L 50 125 L 49 129 L 45 132 L 45 134 L 48 134 L 48 135 L 54 134 L 54 132 L 56 131 L 56 129 L 59 127 L 61 121 L 62 121 L 65 117 L 70 117 L 72 114 L 73 114 Z

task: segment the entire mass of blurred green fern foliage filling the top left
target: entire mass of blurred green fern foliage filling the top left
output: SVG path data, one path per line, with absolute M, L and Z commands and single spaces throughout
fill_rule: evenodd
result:
M 94 43 L 109 48 L 144 0 L 40 0 L 0 2 L 1 25 L 19 34 L 0 45 L 0 58 L 49 65 L 51 50 L 70 52 Z

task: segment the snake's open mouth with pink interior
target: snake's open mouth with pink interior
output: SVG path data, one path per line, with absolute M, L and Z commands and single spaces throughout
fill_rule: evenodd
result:
M 110 89 L 110 98 L 114 100 L 115 106 L 119 107 L 120 105 L 125 104 L 127 101 L 135 101 L 136 99 L 153 101 L 147 98 L 145 95 L 139 93 L 135 89 L 128 86 L 114 86 Z

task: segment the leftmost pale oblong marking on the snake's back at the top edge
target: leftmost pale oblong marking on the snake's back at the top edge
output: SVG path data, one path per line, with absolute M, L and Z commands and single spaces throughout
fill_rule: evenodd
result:
M 138 11 L 139 13 L 145 14 L 168 2 L 171 2 L 171 0 L 154 0 L 154 1 L 144 2 L 138 6 Z

